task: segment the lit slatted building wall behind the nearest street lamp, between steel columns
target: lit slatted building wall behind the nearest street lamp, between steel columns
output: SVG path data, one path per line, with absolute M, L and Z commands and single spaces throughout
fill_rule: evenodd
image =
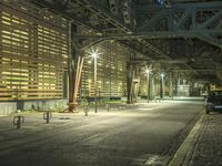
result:
M 98 97 L 122 97 L 127 94 L 127 59 L 130 52 L 120 43 L 107 41 L 85 51 L 81 76 L 81 98 L 94 97 L 94 60 L 91 52 L 98 51 Z

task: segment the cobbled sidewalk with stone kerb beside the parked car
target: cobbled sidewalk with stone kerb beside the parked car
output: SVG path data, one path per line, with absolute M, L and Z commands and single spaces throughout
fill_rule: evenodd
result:
M 211 113 L 193 127 L 170 166 L 222 166 L 222 114 Z

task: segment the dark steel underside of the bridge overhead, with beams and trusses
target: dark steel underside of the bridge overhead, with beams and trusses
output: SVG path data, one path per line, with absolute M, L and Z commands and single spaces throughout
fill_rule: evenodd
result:
M 143 54 L 143 62 L 179 61 L 173 68 L 218 81 L 215 71 L 222 62 L 222 2 L 219 0 L 32 2 L 70 18 L 79 28 L 74 38 L 82 49 L 114 40 Z

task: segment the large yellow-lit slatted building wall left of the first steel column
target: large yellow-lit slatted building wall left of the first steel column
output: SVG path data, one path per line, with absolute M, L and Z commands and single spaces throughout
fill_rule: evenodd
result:
M 62 98 L 68 22 L 28 1 L 0 3 L 0 102 Z

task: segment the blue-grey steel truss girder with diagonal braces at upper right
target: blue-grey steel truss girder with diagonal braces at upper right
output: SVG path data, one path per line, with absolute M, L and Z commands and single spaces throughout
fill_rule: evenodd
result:
M 222 2 L 172 4 L 170 8 L 137 7 L 138 22 L 134 35 L 152 38 L 198 38 L 222 48 Z M 144 15 L 148 17 L 144 21 Z M 139 34 L 138 34 L 139 33 Z

